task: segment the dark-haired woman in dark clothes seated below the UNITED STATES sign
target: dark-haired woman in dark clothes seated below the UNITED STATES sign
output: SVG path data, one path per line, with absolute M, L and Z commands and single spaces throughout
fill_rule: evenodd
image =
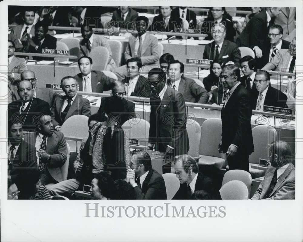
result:
M 209 94 L 212 94 L 213 91 L 218 88 L 219 76 L 221 75 L 224 64 L 225 63 L 222 60 L 214 60 L 209 68 L 210 74 L 203 78 L 204 88 L 209 92 Z

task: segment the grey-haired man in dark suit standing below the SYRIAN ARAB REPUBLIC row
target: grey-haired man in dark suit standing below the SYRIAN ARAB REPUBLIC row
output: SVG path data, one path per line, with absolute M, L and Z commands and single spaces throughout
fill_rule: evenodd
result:
M 218 151 L 227 154 L 230 170 L 249 172 L 248 157 L 254 151 L 249 94 L 240 83 L 240 69 L 236 65 L 222 69 L 222 83 L 229 92 L 221 110 L 222 140 Z

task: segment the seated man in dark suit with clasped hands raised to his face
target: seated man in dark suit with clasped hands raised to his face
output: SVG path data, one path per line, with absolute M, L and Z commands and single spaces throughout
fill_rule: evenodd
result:
M 132 151 L 130 169 L 125 181 L 134 188 L 136 199 L 167 199 L 163 177 L 151 168 L 151 157 L 145 151 Z

